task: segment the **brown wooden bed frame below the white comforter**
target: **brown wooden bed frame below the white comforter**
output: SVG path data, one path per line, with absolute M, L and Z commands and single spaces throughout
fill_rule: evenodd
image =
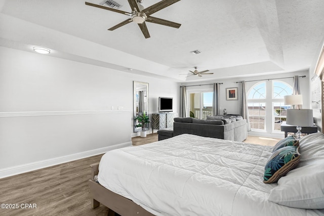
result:
M 103 187 L 99 183 L 94 181 L 95 175 L 99 173 L 99 163 L 90 165 L 91 167 L 91 179 L 89 180 L 91 207 L 96 208 L 101 204 L 109 208 L 108 215 L 115 215 L 118 213 L 125 216 L 153 216 L 154 214 L 148 212 L 143 207 L 139 206 L 132 200 L 120 196 L 107 188 Z

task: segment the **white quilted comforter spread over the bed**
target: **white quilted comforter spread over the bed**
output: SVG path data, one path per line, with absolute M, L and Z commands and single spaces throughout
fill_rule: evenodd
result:
M 272 147 L 179 135 L 107 152 L 99 183 L 155 215 L 322 215 L 267 200 Z

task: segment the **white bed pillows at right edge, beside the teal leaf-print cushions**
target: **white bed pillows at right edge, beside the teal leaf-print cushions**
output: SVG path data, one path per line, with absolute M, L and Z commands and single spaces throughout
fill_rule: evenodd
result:
M 268 200 L 295 208 L 324 208 L 324 134 L 303 137 L 299 147 L 299 164 L 279 179 Z

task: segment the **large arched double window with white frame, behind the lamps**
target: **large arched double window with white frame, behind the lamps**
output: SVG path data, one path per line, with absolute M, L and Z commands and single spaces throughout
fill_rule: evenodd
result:
M 287 109 L 284 96 L 292 95 L 291 85 L 284 81 L 258 82 L 248 92 L 248 107 L 252 131 L 280 132 L 286 120 Z

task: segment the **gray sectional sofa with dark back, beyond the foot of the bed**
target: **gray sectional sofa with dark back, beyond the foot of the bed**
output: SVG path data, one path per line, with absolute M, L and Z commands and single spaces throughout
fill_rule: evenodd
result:
M 194 134 L 224 140 L 242 142 L 248 137 L 247 120 L 241 116 L 207 116 L 206 120 L 196 118 L 174 118 L 172 128 L 157 132 L 158 140 L 164 140 L 180 134 Z

